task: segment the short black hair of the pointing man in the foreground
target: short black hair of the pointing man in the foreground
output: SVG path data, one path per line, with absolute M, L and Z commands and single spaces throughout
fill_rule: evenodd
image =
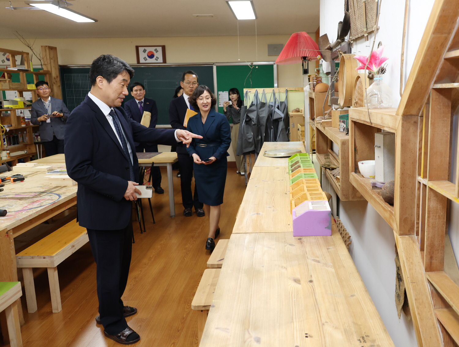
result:
M 134 77 L 134 69 L 124 60 L 112 54 L 103 54 L 93 60 L 89 70 L 89 80 L 91 85 L 95 85 L 97 76 L 102 76 L 108 83 L 112 83 L 112 80 L 123 71 L 126 71 L 130 78 Z

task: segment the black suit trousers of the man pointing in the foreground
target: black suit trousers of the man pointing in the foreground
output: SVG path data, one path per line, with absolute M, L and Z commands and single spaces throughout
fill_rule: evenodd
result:
M 123 296 L 132 254 L 132 222 L 119 230 L 87 229 L 97 267 L 97 297 L 101 323 L 110 335 L 128 327 L 123 316 Z

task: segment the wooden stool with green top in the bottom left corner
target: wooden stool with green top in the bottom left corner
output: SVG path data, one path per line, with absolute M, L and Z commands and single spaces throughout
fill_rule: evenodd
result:
M 22 347 L 16 300 L 22 296 L 21 282 L 0 282 L 0 312 L 6 312 L 11 347 Z

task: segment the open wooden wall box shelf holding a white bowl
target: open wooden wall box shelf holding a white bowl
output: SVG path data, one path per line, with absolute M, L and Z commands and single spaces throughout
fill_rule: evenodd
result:
M 395 112 L 396 108 L 349 109 L 349 141 L 354 148 L 349 152 L 350 182 L 393 230 L 397 230 L 394 206 L 383 199 L 381 188 L 375 187 L 374 184 L 372 186 L 372 182 L 390 182 L 396 179 L 396 137 L 397 132 L 403 129 L 402 117 L 397 116 Z M 417 138 L 417 134 L 415 136 Z M 369 162 L 362 163 L 363 161 Z M 364 164 L 368 167 L 364 167 Z M 367 172 L 368 168 L 372 171 Z M 401 183 L 396 182 L 398 185 Z

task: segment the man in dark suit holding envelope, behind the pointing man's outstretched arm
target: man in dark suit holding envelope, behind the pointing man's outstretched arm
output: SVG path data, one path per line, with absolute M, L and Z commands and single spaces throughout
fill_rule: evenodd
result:
M 129 118 L 134 119 L 136 122 L 140 123 L 143 117 L 144 112 L 150 112 L 150 124 L 149 128 L 155 128 L 158 122 L 158 108 L 156 107 L 156 101 L 153 99 L 148 99 L 145 97 L 145 87 L 140 82 L 134 82 L 131 85 L 131 95 L 134 99 L 131 99 L 124 103 L 124 111 Z M 147 126 L 146 124 L 144 124 Z M 154 143 L 139 143 L 134 142 L 135 152 L 157 152 L 158 145 Z M 161 170 L 159 166 L 151 167 L 151 185 L 155 188 L 155 192 L 158 194 L 163 194 L 164 189 L 161 188 Z

